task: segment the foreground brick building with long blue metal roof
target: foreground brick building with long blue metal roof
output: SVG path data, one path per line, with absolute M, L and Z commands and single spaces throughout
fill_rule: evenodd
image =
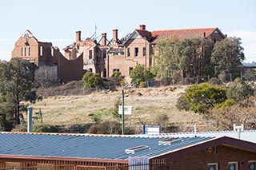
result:
M 254 169 L 256 144 L 226 136 L 0 133 L 0 169 Z

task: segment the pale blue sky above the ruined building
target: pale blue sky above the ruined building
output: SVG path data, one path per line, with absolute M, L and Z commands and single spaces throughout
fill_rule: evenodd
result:
M 10 60 L 14 43 L 26 31 L 39 42 L 63 49 L 96 32 L 122 38 L 146 25 L 146 30 L 218 27 L 228 37 L 241 38 L 245 62 L 256 61 L 255 0 L 3 0 L 0 10 L 0 60 Z M 95 31 L 96 30 L 96 31 Z M 98 39 L 99 40 L 99 39 Z

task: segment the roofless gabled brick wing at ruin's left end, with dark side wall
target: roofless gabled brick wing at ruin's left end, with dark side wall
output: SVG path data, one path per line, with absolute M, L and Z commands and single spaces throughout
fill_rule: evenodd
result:
M 78 81 L 82 79 L 82 75 L 85 73 L 82 69 L 82 57 L 67 60 L 60 53 L 58 47 L 52 46 L 50 42 L 38 42 L 29 30 L 26 30 L 18 41 L 15 42 L 11 57 L 22 57 L 29 60 L 36 65 L 37 69 L 44 65 L 49 69 L 53 67 L 52 70 L 57 70 L 57 73 L 49 72 L 49 75 L 46 75 L 49 81 L 62 81 L 64 83 L 74 80 Z M 58 69 L 55 69 L 56 66 Z

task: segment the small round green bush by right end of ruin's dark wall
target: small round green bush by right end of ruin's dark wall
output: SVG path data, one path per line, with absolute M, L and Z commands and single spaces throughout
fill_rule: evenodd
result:
M 100 88 L 103 85 L 102 78 L 98 73 L 86 72 L 82 77 L 82 81 L 85 88 Z

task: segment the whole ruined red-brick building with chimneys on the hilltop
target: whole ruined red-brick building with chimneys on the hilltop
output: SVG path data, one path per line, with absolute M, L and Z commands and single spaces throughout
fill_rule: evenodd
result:
M 62 54 L 58 47 L 50 42 L 38 42 L 26 30 L 15 43 L 12 57 L 30 60 L 39 69 L 47 68 L 51 70 L 48 77 L 63 82 L 81 80 L 86 71 L 99 73 L 101 77 L 111 77 L 114 71 L 118 71 L 130 81 L 130 71 L 136 65 L 145 65 L 146 68 L 154 65 L 154 45 L 161 38 L 202 38 L 213 42 L 226 38 L 217 27 L 149 31 L 145 25 L 139 26 L 125 38 L 118 38 L 117 29 L 113 30 L 112 38 L 108 39 L 103 33 L 99 41 L 92 38 L 82 40 L 81 34 L 81 31 L 76 32 L 75 42 L 66 46 Z

